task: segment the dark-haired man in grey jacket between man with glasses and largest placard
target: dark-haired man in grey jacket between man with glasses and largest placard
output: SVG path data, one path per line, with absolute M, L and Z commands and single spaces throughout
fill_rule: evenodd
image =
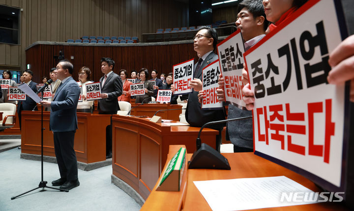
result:
M 245 50 L 258 43 L 266 36 L 268 21 L 264 13 L 262 0 L 243 0 L 238 4 L 236 26 L 241 30 Z M 219 88 L 216 90 L 218 100 L 225 101 L 224 78 L 219 75 Z M 199 102 L 202 103 L 203 91 L 198 94 Z M 250 117 L 252 112 L 244 108 L 229 104 L 228 119 Z M 230 121 L 227 123 L 227 136 L 234 144 L 234 152 L 253 151 L 253 126 L 252 119 Z

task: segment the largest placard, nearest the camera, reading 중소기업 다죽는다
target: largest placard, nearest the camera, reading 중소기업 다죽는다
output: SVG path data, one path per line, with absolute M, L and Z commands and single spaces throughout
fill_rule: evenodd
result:
M 343 190 L 349 133 L 348 86 L 327 82 L 329 53 L 347 36 L 338 8 L 310 0 L 244 53 L 255 153 L 332 191 Z

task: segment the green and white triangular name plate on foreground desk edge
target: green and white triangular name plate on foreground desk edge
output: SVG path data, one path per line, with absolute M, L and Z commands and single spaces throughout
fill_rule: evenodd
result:
M 185 164 L 186 148 L 181 147 L 175 156 L 169 161 L 156 190 L 179 191 L 183 174 L 186 173 Z

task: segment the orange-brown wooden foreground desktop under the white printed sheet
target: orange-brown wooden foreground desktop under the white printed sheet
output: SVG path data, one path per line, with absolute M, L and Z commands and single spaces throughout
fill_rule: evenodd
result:
M 168 160 L 170 160 L 181 146 L 170 146 Z M 188 152 L 188 151 L 187 151 Z M 190 151 L 189 151 L 190 152 Z M 181 191 L 156 191 L 157 183 L 152 189 L 148 199 L 141 211 L 164 210 L 164 211 L 211 211 L 207 201 L 200 193 L 193 181 L 216 180 L 216 179 L 237 179 L 252 177 L 286 176 L 297 183 L 315 192 L 322 192 L 313 182 L 305 177 L 272 163 L 264 158 L 254 155 L 252 152 L 223 153 L 229 160 L 231 170 L 213 169 L 188 169 L 187 182 L 182 183 Z M 187 154 L 190 160 L 192 154 Z M 167 160 L 167 161 L 168 161 Z M 166 162 L 167 164 L 167 162 Z M 165 164 L 165 167 L 166 167 Z M 183 187 L 186 185 L 186 187 Z M 304 211 L 304 210 L 348 210 L 341 203 L 318 203 L 290 207 L 275 207 L 258 209 L 264 211 Z

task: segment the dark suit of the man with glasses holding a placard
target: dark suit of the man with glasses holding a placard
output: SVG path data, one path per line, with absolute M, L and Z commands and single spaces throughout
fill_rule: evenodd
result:
M 213 61 L 218 59 L 218 55 L 214 52 L 209 53 L 207 58 L 203 61 L 200 69 L 194 75 L 194 78 L 199 78 L 202 80 L 202 70 L 208 64 L 212 63 Z M 198 63 L 194 65 L 194 69 L 196 69 Z M 188 103 L 187 109 L 185 112 L 185 117 L 187 122 L 192 127 L 202 127 L 205 123 L 210 121 L 217 121 L 225 119 L 224 110 L 202 110 L 202 104 L 198 101 L 198 92 L 193 91 L 188 95 Z M 220 149 L 221 144 L 221 131 L 225 124 L 217 124 L 217 125 L 210 125 L 209 128 L 219 130 L 219 136 L 216 137 L 216 150 Z

